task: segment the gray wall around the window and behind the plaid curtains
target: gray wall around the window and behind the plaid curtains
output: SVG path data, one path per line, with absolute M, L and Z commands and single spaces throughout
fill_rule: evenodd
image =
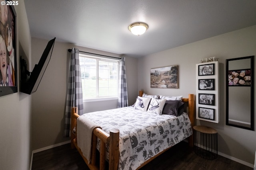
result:
M 32 38 L 32 65 L 37 64 L 49 40 Z M 69 43 L 54 44 L 52 58 L 44 73 L 37 91 L 32 94 L 32 150 L 69 141 L 63 137 L 64 115 L 66 107 L 66 88 L 69 74 L 70 53 L 72 47 L 80 51 L 121 57 L 118 54 L 79 47 Z M 137 59 L 126 57 L 129 103 L 135 102 L 138 94 Z M 84 113 L 113 109 L 117 100 L 84 103 Z

